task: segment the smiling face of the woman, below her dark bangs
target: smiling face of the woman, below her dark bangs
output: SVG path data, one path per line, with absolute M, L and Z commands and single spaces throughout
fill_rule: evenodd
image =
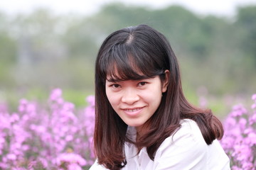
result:
M 167 89 L 167 79 L 166 76 L 165 82 L 161 82 L 157 76 L 142 80 L 106 80 L 107 98 L 124 123 L 136 127 L 139 132 L 159 107 L 162 93 Z

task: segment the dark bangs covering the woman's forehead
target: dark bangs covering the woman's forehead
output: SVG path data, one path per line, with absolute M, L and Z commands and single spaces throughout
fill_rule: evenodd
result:
M 152 57 L 143 50 L 132 49 L 127 45 L 117 45 L 102 57 L 102 78 L 107 81 L 140 80 L 163 74 L 161 68 L 156 69 Z

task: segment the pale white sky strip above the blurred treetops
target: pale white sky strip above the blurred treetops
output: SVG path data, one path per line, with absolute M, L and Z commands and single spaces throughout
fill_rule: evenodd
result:
M 8 14 L 30 13 L 34 8 L 46 7 L 55 13 L 80 13 L 91 15 L 111 2 L 139 5 L 149 8 L 164 8 L 178 4 L 198 14 L 234 16 L 238 6 L 256 5 L 256 0 L 0 0 L 0 11 Z

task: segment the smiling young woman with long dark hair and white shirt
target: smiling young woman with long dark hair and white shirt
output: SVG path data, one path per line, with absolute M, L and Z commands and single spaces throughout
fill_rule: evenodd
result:
M 154 28 L 124 28 L 103 42 L 95 107 L 90 170 L 230 169 L 220 120 L 188 103 L 176 56 Z

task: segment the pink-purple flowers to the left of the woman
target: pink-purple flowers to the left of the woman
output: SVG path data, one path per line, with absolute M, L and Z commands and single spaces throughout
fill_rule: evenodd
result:
M 21 99 L 17 113 L 0 109 L 0 169 L 85 169 L 94 162 L 94 97 L 76 111 L 54 89 L 47 106 Z

